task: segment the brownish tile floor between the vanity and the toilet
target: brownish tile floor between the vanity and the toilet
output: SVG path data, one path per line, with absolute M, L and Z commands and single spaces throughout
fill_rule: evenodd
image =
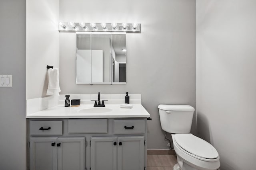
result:
M 177 163 L 176 155 L 148 155 L 147 170 L 172 170 Z

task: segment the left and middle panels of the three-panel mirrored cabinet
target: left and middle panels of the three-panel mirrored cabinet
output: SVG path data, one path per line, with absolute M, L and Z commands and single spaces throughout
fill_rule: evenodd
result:
M 110 84 L 110 34 L 76 35 L 76 83 Z

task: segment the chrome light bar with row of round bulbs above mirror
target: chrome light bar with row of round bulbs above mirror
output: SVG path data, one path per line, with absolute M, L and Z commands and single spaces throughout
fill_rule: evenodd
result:
M 140 23 L 85 23 L 85 22 L 59 22 L 58 30 L 63 32 L 123 32 L 140 33 Z

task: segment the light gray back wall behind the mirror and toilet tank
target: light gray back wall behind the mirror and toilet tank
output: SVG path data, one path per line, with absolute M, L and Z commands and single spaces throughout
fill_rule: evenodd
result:
M 60 33 L 61 94 L 142 95 L 148 110 L 148 149 L 167 149 L 157 106 L 196 105 L 195 0 L 60 0 L 63 22 L 138 22 L 142 32 L 126 35 L 125 85 L 76 85 L 76 34 Z M 194 119 L 195 120 L 195 119 Z M 195 132 L 195 121 L 193 122 Z

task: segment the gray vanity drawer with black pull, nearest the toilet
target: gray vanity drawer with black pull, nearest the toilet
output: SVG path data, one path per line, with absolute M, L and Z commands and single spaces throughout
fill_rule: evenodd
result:
M 114 120 L 114 134 L 145 133 L 144 120 Z

